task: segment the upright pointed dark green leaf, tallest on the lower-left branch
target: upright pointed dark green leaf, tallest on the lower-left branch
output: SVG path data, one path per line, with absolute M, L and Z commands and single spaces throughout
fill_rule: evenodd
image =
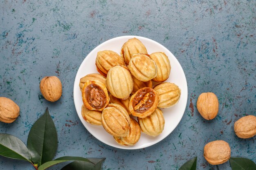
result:
M 57 132 L 48 108 L 32 126 L 27 139 L 27 148 L 33 163 L 52 161 L 58 146 Z

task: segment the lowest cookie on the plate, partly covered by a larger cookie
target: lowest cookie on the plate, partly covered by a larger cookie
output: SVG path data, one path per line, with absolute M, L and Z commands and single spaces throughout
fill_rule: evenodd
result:
M 139 141 L 141 135 L 140 126 L 135 119 L 130 119 L 130 130 L 128 135 L 126 137 L 114 137 L 115 141 L 120 145 L 135 145 Z

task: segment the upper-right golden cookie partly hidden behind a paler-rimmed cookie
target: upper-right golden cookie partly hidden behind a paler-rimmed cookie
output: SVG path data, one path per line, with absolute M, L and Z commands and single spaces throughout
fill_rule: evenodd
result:
M 167 55 L 163 52 L 155 52 L 150 54 L 150 57 L 157 65 L 157 76 L 152 80 L 154 82 L 164 82 L 168 79 L 171 72 L 171 64 Z

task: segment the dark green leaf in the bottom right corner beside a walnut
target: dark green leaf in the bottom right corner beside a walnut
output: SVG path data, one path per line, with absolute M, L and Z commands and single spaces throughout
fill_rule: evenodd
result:
M 246 158 L 229 158 L 232 170 L 256 170 L 256 164 Z

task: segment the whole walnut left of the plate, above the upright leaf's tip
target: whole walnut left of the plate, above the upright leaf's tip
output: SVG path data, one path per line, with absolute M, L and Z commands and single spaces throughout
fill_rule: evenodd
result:
M 40 82 L 40 91 L 46 100 L 55 102 L 61 98 L 61 80 L 56 76 L 44 77 Z

